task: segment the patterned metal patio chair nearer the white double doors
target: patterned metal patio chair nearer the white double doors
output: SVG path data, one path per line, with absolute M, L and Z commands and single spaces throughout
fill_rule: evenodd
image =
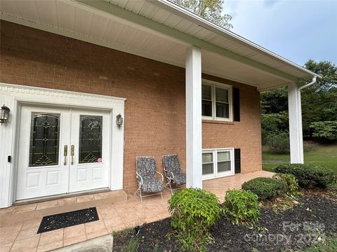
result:
M 143 197 L 152 195 L 161 195 L 162 199 L 164 176 L 156 171 L 156 160 L 153 157 L 138 157 L 136 158 L 136 166 L 138 190 L 135 195 L 139 195 L 141 202 L 143 202 Z M 157 179 L 157 174 L 160 174 L 161 179 Z M 142 195 L 142 193 L 147 193 L 147 195 Z

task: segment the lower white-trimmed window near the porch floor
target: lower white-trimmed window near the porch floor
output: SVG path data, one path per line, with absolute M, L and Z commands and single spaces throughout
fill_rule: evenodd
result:
M 204 149 L 202 151 L 203 179 L 234 174 L 233 148 Z

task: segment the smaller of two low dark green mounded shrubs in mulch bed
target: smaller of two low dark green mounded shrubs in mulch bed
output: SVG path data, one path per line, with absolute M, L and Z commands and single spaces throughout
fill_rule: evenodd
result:
M 259 200 L 269 200 L 283 195 L 286 184 L 284 181 L 272 178 L 256 178 L 242 184 L 243 190 L 250 190 L 258 195 Z

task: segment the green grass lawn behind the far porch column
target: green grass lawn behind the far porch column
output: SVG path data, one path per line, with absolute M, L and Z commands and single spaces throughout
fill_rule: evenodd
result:
M 290 155 L 271 153 L 267 148 L 263 148 L 262 160 L 263 169 L 274 172 L 277 165 L 290 162 Z M 337 145 L 317 146 L 315 150 L 305 152 L 304 162 L 331 169 L 337 174 Z

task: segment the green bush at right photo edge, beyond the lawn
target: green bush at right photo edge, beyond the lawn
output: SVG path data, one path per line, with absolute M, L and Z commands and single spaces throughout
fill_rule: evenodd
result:
M 312 136 L 319 140 L 336 141 L 337 140 L 337 121 L 324 121 L 310 123 Z

